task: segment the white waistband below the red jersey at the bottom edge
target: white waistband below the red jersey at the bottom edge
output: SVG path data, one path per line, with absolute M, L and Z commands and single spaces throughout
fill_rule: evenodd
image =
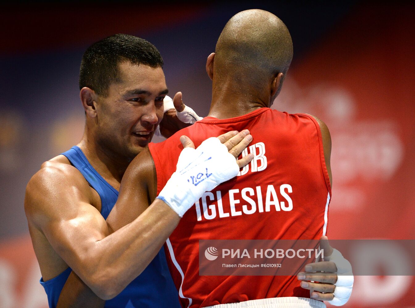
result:
M 275 297 L 240 303 L 219 304 L 206 308 L 326 308 L 325 303 L 304 297 Z

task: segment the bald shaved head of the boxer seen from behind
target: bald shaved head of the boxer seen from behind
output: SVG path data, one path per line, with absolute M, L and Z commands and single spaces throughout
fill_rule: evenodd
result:
M 246 10 L 225 25 L 216 44 L 215 73 L 261 80 L 286 74 L 293 43 L 286 25 L 270 12 Z M 218 76 L 219 75 L 219 76 Z

